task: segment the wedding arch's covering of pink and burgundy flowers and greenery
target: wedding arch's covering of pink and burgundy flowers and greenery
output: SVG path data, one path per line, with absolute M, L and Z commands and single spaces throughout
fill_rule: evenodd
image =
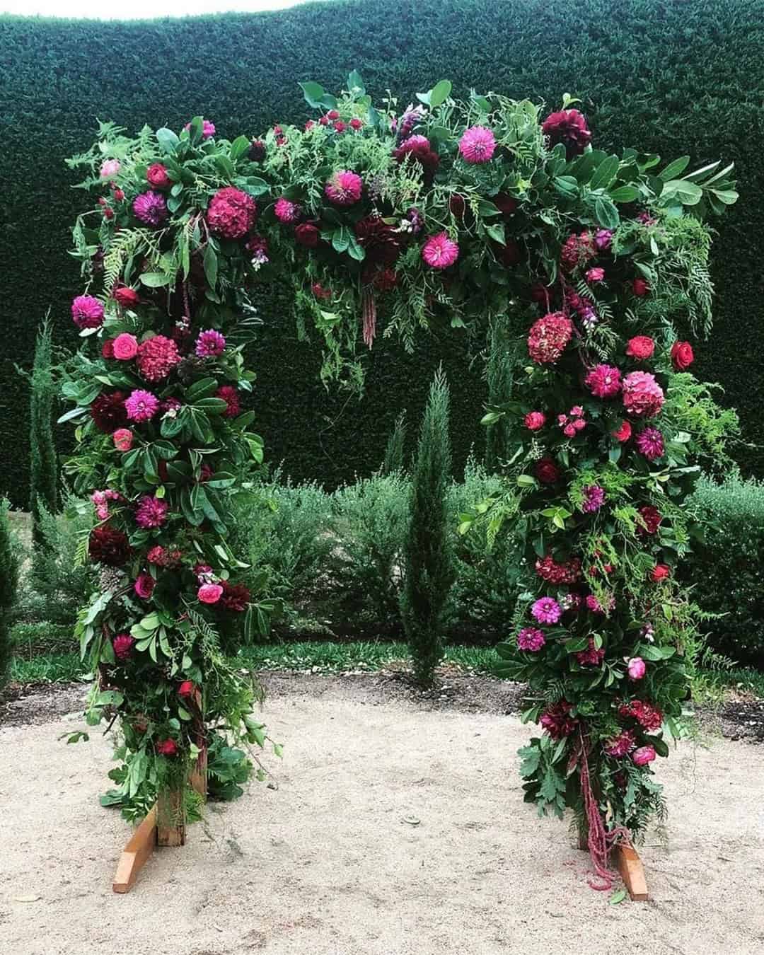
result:
M 225 662 L 274 609 L 237 581 L 226 540 L 263 460 L 244 363 L 254 286 L 293 286 L 324 377 L 350 386 L 382 326 L 409 345 L 419 328 L 502 323 L 515 391 L 484 422 L 511 422 L 515 449 L 505 495 L 460 531 L 511 524 L 526 543 L 499 648 L 542 730 L 520 752 L 526 799 L 575 810 L 606 883 L 608 846 L 663 813 L 652 762 L 685 732 L 699 641 L 675 578 L 684 502 L 731 421 L 688 371 L 687 339 L 711 326 L 703 219 L 735 201 L 732 165 L 608 155 L 568 96 L 541 121 L 527 100 L 456 100 L 448 81 L 402 112 L 372 105 L 356 73 L 339 98 L 302 86 L 318 111 L 303 129 L 229 141 L 202 117 L 136 138 L 102 124 L 70 160 L 97 197 L 74 226 L 85 342 L 62 418 L 102 570 L 77 626 L 99 674 L 88 722 L 118 716 L 120 792 L 146 805 L 188 790 L 214 733 L 267 744 L 257 687 Z M 172 804 L 182 817 L 189 800 Z

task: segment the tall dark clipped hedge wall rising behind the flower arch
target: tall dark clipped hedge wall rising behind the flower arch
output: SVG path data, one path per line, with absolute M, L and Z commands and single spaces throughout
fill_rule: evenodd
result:
M 63 159 L 93 138 L 96 115 L 130 130 L 178 127 L 203 113 L 223 136 L 308 116 L 297 86 L 339 87 L 352 67 L 372 95 L 405 106 L 439 78 L 550 104 L 584 97 L 598 145 L 638 144 L 698 163 L 735 159 L 742 202 L 720 225 L 716 330 L 699 371 L 721 381 L 755 440 L 764 385 L 764 0 L 350 0 L 288 11 L 104 23 L 0 17 L 3 354 L 0 493 L 26 499 L 27 398 L 12 363 L 29 365 L 53 307 L 74 344 L 77 288 L 68 227 L 81 196 Z M 432 371 L 451 372 L 455 457 L 479 441 L 480 369 L 465 371 L 459 333 L 416 355 L 374 348 L 359 404 L 318 382 L 317 343 L 296 340 L 289 303 L 264 303 L 259 407 L 271 458 L 295 476 L 335 482 L 379 462 L 402 407 L 419 414 Z M 764 451 L 748 449 L 749 469 Z

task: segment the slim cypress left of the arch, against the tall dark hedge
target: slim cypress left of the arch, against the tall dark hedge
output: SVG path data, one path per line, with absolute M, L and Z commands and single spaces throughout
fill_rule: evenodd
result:
M 45 546 L 40 504 L 49 514 L 58 507 L 58 475 L 53 444 L 53 334 L 46 318 L 37 332 L 30 376 L 30 511 L 34 549 Z

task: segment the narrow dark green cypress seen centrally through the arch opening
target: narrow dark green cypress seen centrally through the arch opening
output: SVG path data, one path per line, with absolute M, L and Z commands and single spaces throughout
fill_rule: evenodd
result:
M 401 615 L 411 648 L 414 679 L 433 683 L 443 655 L 442 631 L 456 577 L 446 493 L 451 481 L 450 393 L 442 369 L 435 374 L 419 432 L 405 541 L 406 580 Z

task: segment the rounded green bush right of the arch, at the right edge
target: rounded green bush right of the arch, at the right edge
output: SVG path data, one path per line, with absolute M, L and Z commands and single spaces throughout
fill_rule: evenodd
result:
M 711 646 L 742 663 L 764 661 L 764 483 L 702 479 L 690 500 L 704 527 L 685 576 L 695 599 L 716 616 Z

